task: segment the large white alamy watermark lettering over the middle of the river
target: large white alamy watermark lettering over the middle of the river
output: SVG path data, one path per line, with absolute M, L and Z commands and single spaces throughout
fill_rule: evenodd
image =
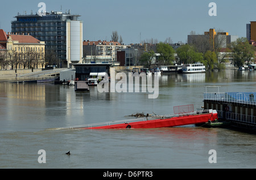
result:
M 152 79 L 154 77 L 154 87 L 152 84 Z M 141 78 L 141 84 L 140 84 Z M 141 72 L 129 72 L 128 80 L 125 72 L 118 72 L 115 74 L 115 68 L 110 68 L 110 83 L 108 82 L 108 75 L 104 77 L 105 80 L 102 80 L 98 83 L 98 92 L 148 92 L 148 98 L 158 98 L 159 95 L 159 75 L 146 75 L 146 73 Z M 135 79 L 135 80 L 134 80 Z M 115 80 L 119 80 L 115 83 Z M 110 84 L 110 88 L 109 88 Z

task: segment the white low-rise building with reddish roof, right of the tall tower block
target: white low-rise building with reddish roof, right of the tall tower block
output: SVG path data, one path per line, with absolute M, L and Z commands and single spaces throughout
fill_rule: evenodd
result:
M 114 41 L 83 41 L 84 62 L 117 62 L 117 52 L 119 49 L 130 48 L 130 45 L 120 44 Z

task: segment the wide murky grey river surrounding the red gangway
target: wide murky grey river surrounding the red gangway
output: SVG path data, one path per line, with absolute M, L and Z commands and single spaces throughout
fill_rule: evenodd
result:
M 171 114 L 178 105 L 200 109 L 205 86 L 255 92 L 255 75 L 236 70 L 162 75 L 158 98 L 152 99 L 148 92 L 100 93 L 97 87 L 76 92 L 53 83 L 0 83 L 0 168 L 256 168 L 256 136 L 233 129 L 48 130 L 142 112 Z M 211 149 L 216 163 L 209 161 Z M 39 163 L 43 154 L 45 163 Z

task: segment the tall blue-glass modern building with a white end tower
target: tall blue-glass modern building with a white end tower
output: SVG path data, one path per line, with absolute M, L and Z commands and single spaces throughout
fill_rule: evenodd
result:
M 46 42 L 46 53 L 54 52 L 61 67 L 71 67 L 82 62 L 82 21 L 80 15 L 72 15 L 70 10 L 45 12 L 43 14 L 15 16 L 11 22 L 12 33 L 34 36 Z

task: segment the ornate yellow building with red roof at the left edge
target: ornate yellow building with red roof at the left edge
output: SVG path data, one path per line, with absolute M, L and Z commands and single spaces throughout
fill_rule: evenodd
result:
M 31 35 L 6 33 L 0 29 L 1 69 L 42 68 L 45 43 Z

